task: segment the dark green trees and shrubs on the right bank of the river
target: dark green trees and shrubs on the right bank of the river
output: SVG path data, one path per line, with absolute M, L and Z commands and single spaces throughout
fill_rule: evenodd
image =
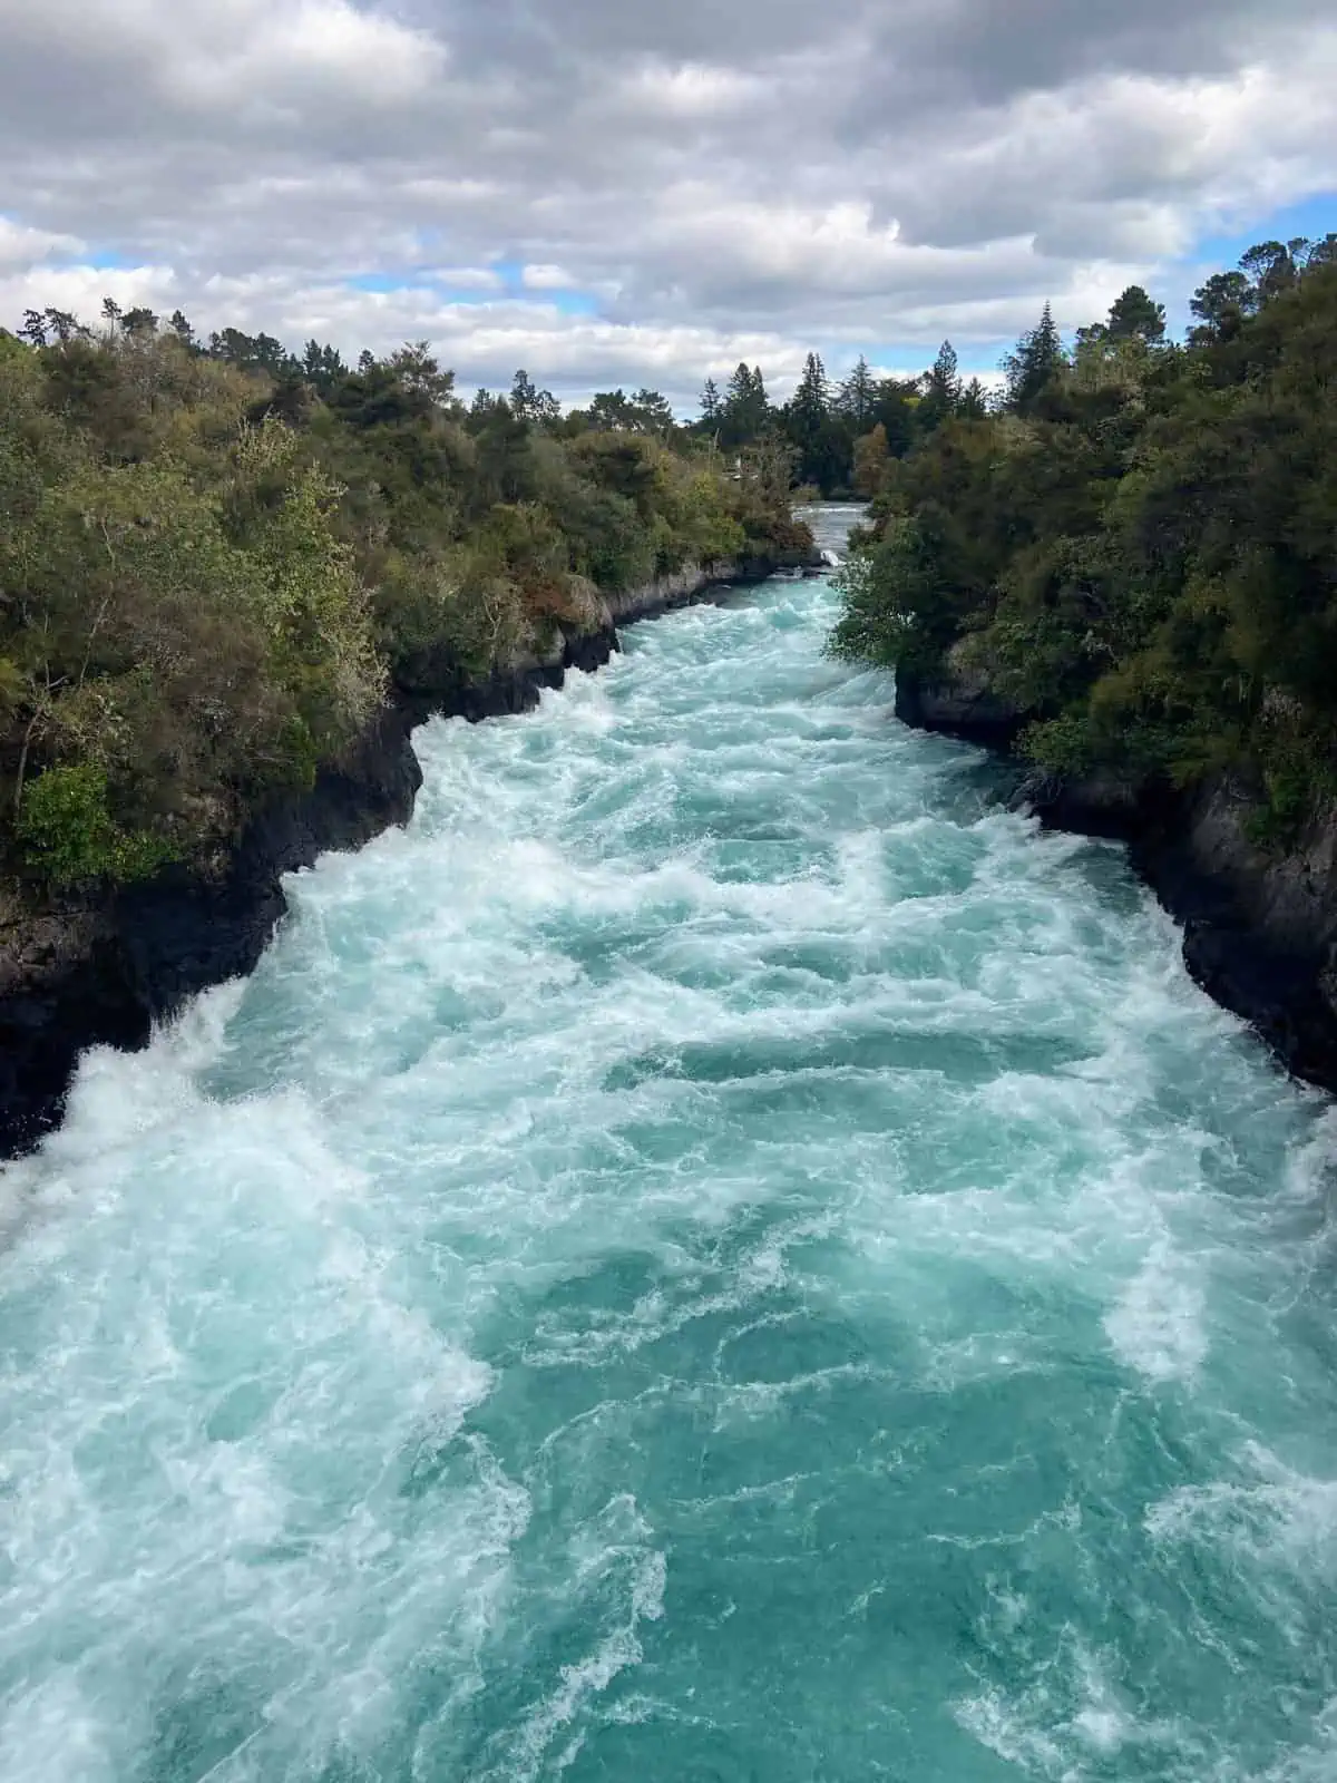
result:
M 1066 776 L 1232 770 L 1260 840 L 1337 793 L 1337 237 L 1264 242 L 1184 342 L 1137 287 L 1048 314 L 989 414 L 877 458 L 833 647 L 986 686 Z

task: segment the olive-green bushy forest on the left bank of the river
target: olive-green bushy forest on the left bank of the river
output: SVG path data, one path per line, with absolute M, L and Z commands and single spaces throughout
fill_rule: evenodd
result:
M 424 660 L 590 629 L 686 563 L 799 562 L 792 455 L 663 398 L 471 407 L 426 344 L 346 366 L 176 314 L 0 332 L 0 877 L 143 877 L 310 785 Z

